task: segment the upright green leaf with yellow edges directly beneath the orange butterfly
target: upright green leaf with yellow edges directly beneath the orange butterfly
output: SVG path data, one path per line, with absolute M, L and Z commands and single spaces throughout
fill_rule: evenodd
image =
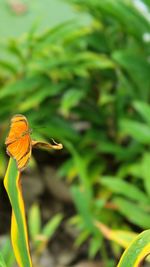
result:
M 32 267 L 20 172 L 18 172 L 16 161 L 12 158 L 9 160 L 4 186 L 12 206 L 11 240 L 16 260 L 19 267 Z

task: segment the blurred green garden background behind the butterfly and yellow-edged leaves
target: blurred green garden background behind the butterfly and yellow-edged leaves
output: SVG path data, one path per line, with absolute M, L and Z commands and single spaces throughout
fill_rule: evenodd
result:
M 24 114 L 33 139 L 64 145 L 34 150 L 22 174 L 34 266 L 114 267 L 128 240 L 150 227 L 149 101 L 149 0 L 0 0 L 8 267 L 16 266 L 3 188 L 10 118 Z

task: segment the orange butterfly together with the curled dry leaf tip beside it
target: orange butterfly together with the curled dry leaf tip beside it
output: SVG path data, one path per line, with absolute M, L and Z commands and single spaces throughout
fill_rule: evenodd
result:
M 54 145 L 46 142 L 38 142 L 31 139 L 31 129 L 29 128 L 28 121 L 23 115 L 15 115 L 11 119 L 11 126 L 9 134 L 6 138 L 5 144 L 7 147 L 7 154 L 13 157 L 17 162 L 19 171 L 25 169 L 31 157 L 32 147 L 45 147 L 53 149 L 62 149 L 62 144 Z

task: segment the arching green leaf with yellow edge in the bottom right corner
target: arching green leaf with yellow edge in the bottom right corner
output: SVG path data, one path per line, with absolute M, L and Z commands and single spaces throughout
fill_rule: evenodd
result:
M 117 267 L 139 267 L 150 254 L 150 230 L 139 234 L 123 253 Z

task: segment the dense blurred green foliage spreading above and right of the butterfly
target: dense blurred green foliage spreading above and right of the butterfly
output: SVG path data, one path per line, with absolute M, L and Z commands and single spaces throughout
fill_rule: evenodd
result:
M 35 137 L 65 145 L 58 172 L 72 184 L 76 244 L 88 239 L 93 257 L 105 247 L 95 221 L 150 225 L 150 1 L 141 1 L 145 11 L 132 0 L 69 3 L 91 24 L 69 21 L 42 34 L 34 25 L 0 43 L 1 138 L 9 117 L 23 113 Z

